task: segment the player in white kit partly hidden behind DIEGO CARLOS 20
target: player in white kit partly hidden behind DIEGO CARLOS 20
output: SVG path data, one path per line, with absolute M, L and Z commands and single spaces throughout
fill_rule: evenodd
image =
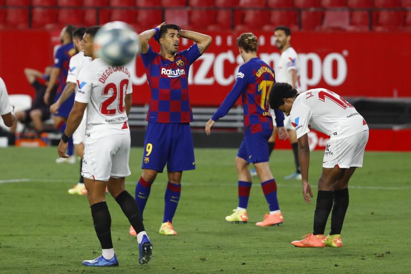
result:
M 73 32 L 73 42 L 76 49 L 76 55 L 70 58 L 66 86 L 64 87 L 63 92 L 61 93 L 60 97 L 57 101 L 50 106 L 51 113 L 58 114 L 58 109 L 60 106 L 71 97 L 73 92 L 77 91 L 77 80 L 80 71 L 87 66 L 91 62 L 91 57 L 84 56 L 83 53 L 83 45 L 82 39 L 84 36 L 84 32 L 86 31 L 85 27 L 77 28 Z M 85 130 L 86 130 L 86 113 L 85 111 L 83 119 L 77 130 L 73 133 L 73 144 L 78 157 L 81 158 L 80 161 L 80 179 L 79 182 L 74 185 L 73 188 L 68 190 L 69 194 L 78 194 L 78 195 L 86 195 L 87 189 L 84 185 L 83 176 L 81 176 L 81 169 L 83 165 L 83 154 L 84 154 L 84 138 L 85 138 Z

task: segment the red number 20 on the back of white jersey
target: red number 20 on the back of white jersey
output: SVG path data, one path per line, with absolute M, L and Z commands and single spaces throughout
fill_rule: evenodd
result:
M 110 91 L 112 91 L 112 94 L 111 97 L 107 98 L 107 100 L 100 105 L 100 112 L 104 115 L 115 115 L 117 110 L 119 113 L 124 113 L 126 110 L 126 107 L 124 106 L 124 96 L 126 94 L 127 87 L 128 79 L 121 80 L 118 87 L 120 92 L 117 92 L 117 86 L 114 83 L 107 84 L 103 89 L 102 95 L 108 95 Z M 108 109 L 108 106 L 110 106 L 116 99 L 118 100 L 117 109 Z

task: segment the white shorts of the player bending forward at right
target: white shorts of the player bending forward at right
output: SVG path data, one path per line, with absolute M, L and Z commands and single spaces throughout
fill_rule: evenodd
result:
M 368 130 L 344 139 L 328 141 L 325 145 L 322 167 L 334 168 L 335 165 L 340 168 L 361 167 L 367 141 Z

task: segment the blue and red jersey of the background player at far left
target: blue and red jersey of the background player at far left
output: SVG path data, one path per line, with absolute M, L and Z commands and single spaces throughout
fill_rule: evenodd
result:
M 62 45 L 60 48 L 57 49 L 57 52 L 54 56 L 54 67 L 58 67 L 60 69 L 60 74 L 58 75 L 59 85 L 57 88 L 58 93 L 62 93 L 64 87 L 66 86 L 66 79 L 68 74 L 68 65 L 70 63 L 71 56 L 76 54 L 76 50 L 74 49 L 74 45 L 72 43 Z M 57 83 L 56 83 L 57 85 Z

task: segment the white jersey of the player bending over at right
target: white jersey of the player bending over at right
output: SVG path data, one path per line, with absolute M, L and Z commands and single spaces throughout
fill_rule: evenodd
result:
M 330 140 L 343 139 L 368 130 L 368 125 L 357 110 L 344 98 L 327 89 L 302 92 L 294 101 L 290 112 L 297 138 L 309 128 L 330 136 Z

